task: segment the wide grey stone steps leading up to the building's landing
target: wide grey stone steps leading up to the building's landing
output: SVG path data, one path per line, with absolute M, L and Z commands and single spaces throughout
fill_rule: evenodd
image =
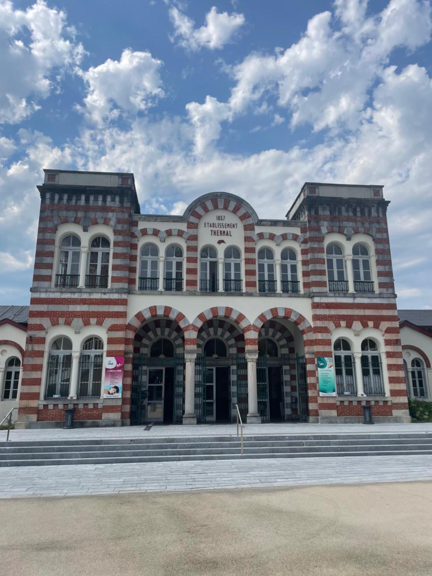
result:
M 406 454 L 432 454 L 432 432 L 245 435 L 244 454 L 236 436 L 11 441 L 0 467 Z

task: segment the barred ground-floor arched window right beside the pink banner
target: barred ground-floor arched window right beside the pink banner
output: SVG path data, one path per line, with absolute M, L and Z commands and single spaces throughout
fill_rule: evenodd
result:
M 99 398 L 102 386 L 104 343 L 91 336 L 82 345 L 79 357 L 78 398 Z

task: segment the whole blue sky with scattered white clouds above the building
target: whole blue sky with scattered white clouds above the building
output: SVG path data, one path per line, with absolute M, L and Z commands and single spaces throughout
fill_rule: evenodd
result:
M 0 0 L 0 302 L 29 300 L 64 168 L 134 172 L 149 213 L 384 184 L 399 307 L 432 307 L 431 31 L 418 0 Z

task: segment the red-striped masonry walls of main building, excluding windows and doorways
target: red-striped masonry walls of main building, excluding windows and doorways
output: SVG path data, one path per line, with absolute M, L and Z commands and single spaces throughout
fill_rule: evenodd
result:
M 237 353 L 245 353 L 253 362 L 258 339 L 274 334 L 286 356 L 286 419 L 295 416 L 290 400 L 297 394 L 295 355 L 300 354 L 306 361 L 310 422 L 354 422 L 362 417 L 364 403 L 372 404 L 378 419 L 409 421 L 386 222 L 388 202 L 382 197 L 382 187 L 306 183 L 286 220 L 260 219 L 245 200 L 225 192 L 201 196 L 183 217 L 142 215 L 132 174 L 46 170 L 46 180 L 38 188 L 41 207 L 18 427 L 59 423 L 64 409 L 71 405 L 77 408 L 75 420 L 84 420 L 87 425 L 127 425 L 132 355 L 143 350 L 142 342 L 148 346 L 152 335 L 160 330 L 160 320 L 168 337 L 175 332 L 173 341 L 180 339 L 181 351 L 191 358 L 197 342 L 198 347 L 203 346 L 203 334 L 216 334 L 219 329 L 222 338 L 227 334 L 234 352 L 237 346 Z M 232 236 L 211 236 L 207 223 L 213 225 L 215 218 L 225 215 L 233 226 Z M 56 287 L 59 243 L 66 234 L 81 240 L 76 287 Z M 85 260 L 96 236 L 110 242 L 107 287 L 86 288 Z M 349 282 L 346 293 L 329 291 L 325 256 L 329 242 L 337 242 L 344 249 Z M 372 293 L 357 293 L 353 288 L 351 261 L 356 242 L 369 249 Z M 155 245 L 158 251 L 157 289 L 139 290 L 140 254 L 147 244 Z M 183 250 L 181 291 L 165 291 L 161 281 L 165 250 L 171 244 Z M 223 270 L 224 249 L 230 245 L 240 249 L 241 293 L 226 293 L 222 283 L 214 293 L 199 291 L 200 250 L 207 245 L 218 252 L 219 271 Z M 256 259 L 263 247 L 275 256 L 274 293 L 257 291 Z M 293 249 L 298 257 L 300 290 L 295 294 L 281 290 L 278 267 L 283 248 Z M 220 328 L 216 321 L 220 321 Z M 153 323 L 151 331 L 140 333 L 149 322 Z M 73 343 L 73 362 L 78 362 L 82 342 L 88 336 L 103 340 L 105 355 L 124 357 L 122 398 L 46 399 L 48 355 L 58 336 L 66 336 Z M 353 342 L 355 353 L 360 352 L 363 339 L 377 342 L 385 389 L 382 396 L 319 395 L 316 358 L 331 356 L 335 339 L 340 337 Z M 71 373 L 76 376 L 77 370 Z M 253 382 L 249 382 L 249 391 L 251 385 Z M 249 412 L 255 414 L 250 406 Z

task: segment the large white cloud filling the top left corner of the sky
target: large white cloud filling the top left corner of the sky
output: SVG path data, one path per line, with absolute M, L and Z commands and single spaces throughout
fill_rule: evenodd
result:
M 22 33 L 29 39 L 22 40 Z M 48 8 L 43 0 L 25 12 L 0 0 L 0 123 L 28 118 L 62 71 L 81 62 L 84 48 L 74 36 L 65 12 Z

